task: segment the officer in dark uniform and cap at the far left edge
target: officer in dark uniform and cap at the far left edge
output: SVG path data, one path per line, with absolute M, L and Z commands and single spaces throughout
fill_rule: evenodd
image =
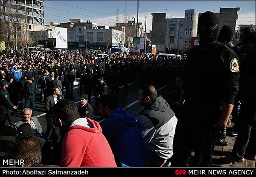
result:
M 6 119 L 9 121 L 10 126 L 13 127 L 12 124 L 12 118 L 11 118 L 11 112 L 10 107 L 12 107 L 14 110 L 17 109 L 17 107 L 10 101 L 9 93 L 6 90 L 8 88 L 8 85 L 10 85 L 7 81 L 1 81 L 1 88 L 0 88 L 0 131 L 3 130 L 3 127 L 5 126 Z

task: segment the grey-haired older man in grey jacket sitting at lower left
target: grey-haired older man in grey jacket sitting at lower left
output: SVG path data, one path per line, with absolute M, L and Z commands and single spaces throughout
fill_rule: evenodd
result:
M 15 137 L 19 135 L 18 128 L 21 124 L 29 123 L 33 130 L 33 135 L 42 138 L 42 126 L 36 116 L 31 117 L 32 110 L 25 108 L 23 111 L 23 118 L 15 124 Z

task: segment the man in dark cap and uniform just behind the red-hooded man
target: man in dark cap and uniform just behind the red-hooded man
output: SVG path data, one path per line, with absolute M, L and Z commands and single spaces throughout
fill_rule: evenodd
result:
M 78 107 L 80 116 L 93 119 L 93 107 L 88 103 L 88 95 L 82 94 L 79 99 L 81 100 L 81 105 Z

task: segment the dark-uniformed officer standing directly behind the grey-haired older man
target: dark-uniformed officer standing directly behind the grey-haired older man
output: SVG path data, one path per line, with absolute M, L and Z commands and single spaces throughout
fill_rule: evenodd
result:
M 27 83 L 24 87 L 25 93 L 25 107 L 30 108 L 32 111 L 35 110 L 35 92 L 37 90 L 37 84 L 32 81 L 33 77 L 27 77 Z M 33 114 L 32 114 L 33 115 Z

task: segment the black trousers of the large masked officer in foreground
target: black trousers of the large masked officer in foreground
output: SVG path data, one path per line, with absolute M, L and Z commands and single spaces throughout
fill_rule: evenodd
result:
M 213 122 L 205 113 L 193 109 L 183 110 L 178 118 L 173 141 L 173 156 L 170 159 L 172 166 L 212 166 L 212 152 L 216 141 L 210 138 Z M 195 155 L 194 163 L 191 164 L 192 152 Z

